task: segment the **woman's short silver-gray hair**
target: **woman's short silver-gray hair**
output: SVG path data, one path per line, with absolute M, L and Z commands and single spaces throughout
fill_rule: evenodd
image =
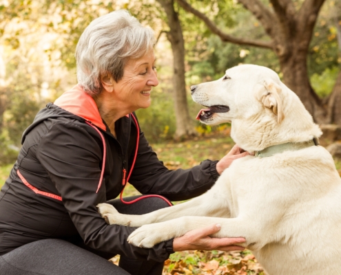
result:
M 94 19 L 76 46 L 77 80 L 90 96 L 101 94 L 101 76 L 116 82 L 123 77 L 130 58 L 140 58 L 154 46 L 154 32 L 126 10 L 116 10 Z

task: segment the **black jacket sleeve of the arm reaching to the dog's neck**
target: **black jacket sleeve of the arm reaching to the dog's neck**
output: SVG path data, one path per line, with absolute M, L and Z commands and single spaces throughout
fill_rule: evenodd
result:
M 158 159 L 141 132 L 138 154 L 129 181 L 142 194 L 163 195 L 171 201 L 192 199 L 209 190 L 216 182 L 219 176 L 217 162 L 206 159 L 187 170 L 169 170 Z

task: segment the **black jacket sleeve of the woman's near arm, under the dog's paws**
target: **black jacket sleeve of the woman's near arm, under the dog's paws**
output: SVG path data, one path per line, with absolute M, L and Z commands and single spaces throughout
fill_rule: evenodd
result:
M 93 130 L 94 133 L 90 134 Z M 86 245 L 132 259 L 165 261 L 172 252 L 172 240 L 154 248 L 137 248 L 127 243 L 135 228 L 107 225 L 96 210 L 106 201 L 105 182 L 101 176 L 101 137 L 94 129 L 85 131 L 72 123 L 56 123 L 46 133 L 37 150 L 37 158 L 48 172 L 62 197 L 72 222 Z

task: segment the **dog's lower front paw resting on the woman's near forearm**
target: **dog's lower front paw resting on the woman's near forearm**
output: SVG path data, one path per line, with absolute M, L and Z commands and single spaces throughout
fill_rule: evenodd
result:
M 147 224 L 136 229 L 130 236 L 128 236 L 128 243 L 138 246 L 139 248 L 152 248 L 156 243 L 167 241 L 174 236 L 163 229 L 160 223 Z

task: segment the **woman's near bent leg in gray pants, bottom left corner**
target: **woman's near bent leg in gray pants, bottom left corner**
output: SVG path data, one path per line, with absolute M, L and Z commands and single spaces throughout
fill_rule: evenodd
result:
M 2 256 L 0 274 L 116 274 L 125 270 L 87 250 L 59 239 L 23 245 Z M 6 263 L 7 265 L 5 265 Z M 3 265 L 1 265 L 3 264 Z M 10 273 L 8 268 L 11 270 Z M 7 273 L 3 273 L 6 270 Z

